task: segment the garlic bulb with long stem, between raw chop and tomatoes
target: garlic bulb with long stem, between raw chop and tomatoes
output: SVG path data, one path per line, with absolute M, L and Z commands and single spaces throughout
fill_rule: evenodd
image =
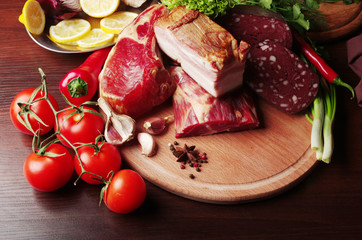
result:
M 114 145 L 122 145 L 134 138 L 136 121 L 125 114 L 116 114 L 104 98 L 98 99 L 101 113 L 105 116 L 104 138 Z

